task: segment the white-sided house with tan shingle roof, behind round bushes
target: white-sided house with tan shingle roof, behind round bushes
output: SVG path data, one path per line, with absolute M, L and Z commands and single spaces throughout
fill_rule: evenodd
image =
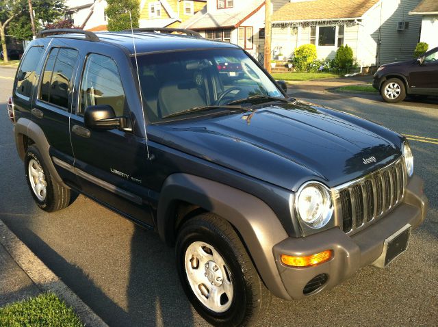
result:
M 363 67 L 409 60 L 421 25 L 409 12 L 420 1 L 291 0 L 272 16 L 272 49 L 286 58 L 311 43 L 318 59 L 326 60 L 348 44 Z

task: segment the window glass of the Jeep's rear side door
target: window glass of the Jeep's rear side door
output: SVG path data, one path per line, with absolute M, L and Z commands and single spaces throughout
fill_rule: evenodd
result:
M 40 88 L 40 99 L 68 108 L 68 93 L 73 70 L 77 62 L 77 50 L 53 48 L 47 58 Z

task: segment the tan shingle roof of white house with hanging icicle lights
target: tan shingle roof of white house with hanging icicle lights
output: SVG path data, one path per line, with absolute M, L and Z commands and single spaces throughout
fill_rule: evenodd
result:
M 274 12 L 272 21 L 359 18 L 376 3 L 378 3 L 378 0 L 307 0 L 289 2 Z

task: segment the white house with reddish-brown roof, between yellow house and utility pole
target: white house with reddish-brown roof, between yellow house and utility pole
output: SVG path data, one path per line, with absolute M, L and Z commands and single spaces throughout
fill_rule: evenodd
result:
M 205 8 L 181 27 L 198 31 L 205 38 L 238 44 L 263 61 L 264 0 L 207 0 Z

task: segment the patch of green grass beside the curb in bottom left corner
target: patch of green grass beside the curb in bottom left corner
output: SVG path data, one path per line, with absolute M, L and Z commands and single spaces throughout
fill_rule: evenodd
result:
M 77 315 L 53 293 L 0 308 L 0 326 L 83 327 Z

